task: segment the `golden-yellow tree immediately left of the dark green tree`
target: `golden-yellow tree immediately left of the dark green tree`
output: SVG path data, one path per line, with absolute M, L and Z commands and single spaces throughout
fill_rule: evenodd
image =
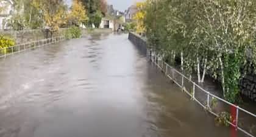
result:
M 82 2 L 73 0 L 71 12 L 68 15 L 69 24 L 79 26 L 87 20 L 87 11 L 85 10 L 84 5 L 82 5 Z

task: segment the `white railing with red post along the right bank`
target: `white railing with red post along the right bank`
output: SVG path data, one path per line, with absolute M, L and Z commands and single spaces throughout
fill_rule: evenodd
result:
M 201 105 L 201 107 L 203 107 L 205 110 L 209 111 L 211 114 L 213 114 L 215 116 L 219 116 L 218 113 L 221 113 L 222 111 L 213 111 L 214 108 L 211 106 L 212 99 L 217 99 L 219 104 L 221 104 L 221 102 L 222 102 L 222 104 L 228 105 L 229 106 L 228 108 L 235 107 L 236 108 L 236 116 L 235 116 L 235 118 L 233 118 L 233 122 L 232 121 L 227 121 L 227 122 L 230 125 L 232 125 L 233 127 L 235 127 L 236 130 L 240 130 L 241 132 L 245 133 L 247 136 L 255 137 L 255 135 L 253 135 L 253 133 L 250 133 L 250 131 L 248 131 L 248 129 L 246 130 L 246 129 L 244 129 L 244 127 L 240 127 L 240 125 L 238 124 L 238 121 L 240 118 L 240 113 L 243 112 L 243 113 L 247 114 L 247 118 L 249 118 L 253 124 L 256 124 L 256 114 L 251 113 L 247 110 L 244 110 L 243 108 L 241 108 L 235 104 L 232 104 L 232 103 L 228 102 L 227 100 L 222 99 L 221 97 L 215 96 L 214 94 L 210 93 L 209 91 L 204 90 L 204 88 L 197 85 L 191 79 L 189 79 L 188 77 L 183 75 L 181 72 L 177 71 L 177 69 L 168 65 L 168 63 L 163 61 L 161 58 L 156 57 L 156 55 L 152 54 L 152 53 L 153 52 L 151 52 L 151 51 L 150 51 L 150 55 L 148 53 L 152 63 L 154 63 L 154 65 L 156 65 L 159 69 L 161 69 L 165 73 L 165 75 L 167 77 L 169 77 L 169 79 L 171 79 L 180 88 L 182 88 L 182 91 L 185 91 L 185 93 L 187 93 L 188 96 L 191 97 L 191 99 L 195 100 L 199 105 Z M 191 92 L 187 90 L 188 84 L 185 85 L 185 82 L 190 83 Z M 204 99 L 204 100 L 206 100 L 206 102 L 202 101 L 201 97 L 195 96 L 196 88 L 198 89 L 197 92 L 200 91 L 200 92 L 206 94 L 205 99 Z M 255 125 L 253 125 L 253 126 L 255 126 Z

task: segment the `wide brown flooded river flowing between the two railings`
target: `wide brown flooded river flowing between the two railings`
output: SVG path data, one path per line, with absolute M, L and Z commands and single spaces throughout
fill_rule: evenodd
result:
M 127 37 L 93 33 L 1 59 L 0 136 L 230 136 Z

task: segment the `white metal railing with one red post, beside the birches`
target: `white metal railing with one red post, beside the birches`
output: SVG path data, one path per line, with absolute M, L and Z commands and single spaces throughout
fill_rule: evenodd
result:
M 254 124 L 256 124 L 256 114 L 253 114 L 247 110 L 244 110 L 238 105 L 234 105 L 228 102 L 227 100 L 224 100 L 221 97 L 215 96 L 209 91 L 204 90 L 204 88 L 197 85 L 195 82 L 193 82 L 191 79 L 183 75 L 181 72 L 177 71 L 177 69 L 168 65 L 168 63 L 163 61 L 160 57 L 157 57 L 157 55 L 155 55 L 154 53 L 152 54 L 151 51 L 149 56 L 152 63 L 154 63 L 154 65 L 156 65 L 159 69 L 161 69 L 162 72 L 167 77 L 169 77 L 169 79 L 171 79 L 180 88 L 182 88 L 182 91 L 185 91 L 185 93 L 187 93 L 192 100 L 195 100 L 199 105 L 201 105 L 201 107 L 203 107 L 205 110 L 207 110 L 214 116 L 218 117 L 219 113 L 227 111 L 227 109 L 229 109 L 230 107 L 235 107 L 236 109 L 235 118 L 232 118 L 232 121 L 227 121 L 227 122 L 233 127 L 235 127 L 236 130 L 240 130 L 241 132 L 245 133 L 247 136 L 255 137 L 255 133 L 252 133 L 249 127 L 246 127 L 245 125 L 248 124 L 248 122 L 251 122 L 250 124 L 253 124 L 253 126 L 255 126 Z M 219 104 L 218 107 L 222 106 L 222 108 L 219 108 L 219 110 L 215 109 L 218 107 L 212 106 L 213 100 L 217 100 Z M 240 116 L 242 113 L 243 113 L 243 116 Z M 243 118 L 240 118 L 240 117 L 243 117 Z M 246 124 L 240 124 L 239 122 L 240 119 L 242 121 L 244 120 L 244 117 L 247 117 Z

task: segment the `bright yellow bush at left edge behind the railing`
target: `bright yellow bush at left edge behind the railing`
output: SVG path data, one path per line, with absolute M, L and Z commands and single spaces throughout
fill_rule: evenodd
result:
M 14 46 L 14 44 L 15 44 L 15 41 L 12 38 L 0 35 L 0 49 L 5 48 L 5 47 Z M 5 48 L 5 49 L 1 50 L 0 53 L 6 54 L 10 51 L 11 51 L 11 49 Z

